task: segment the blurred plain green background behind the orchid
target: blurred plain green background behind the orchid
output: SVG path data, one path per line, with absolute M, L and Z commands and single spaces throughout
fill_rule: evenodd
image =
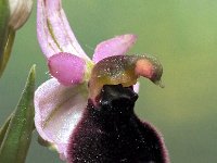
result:
M 104 39 L 138 35 L 129 53 L 156 55 L 166 86 L 161 89 L 140 79 L 138 115 L 162 131 L 173 163 L 217 162 L 217 1 L 67 0 L 63 7 L 90 57 Z M 39 86 L 49 75 L 36 39 L 36 1 L 0 79 L 0 124 L 15 108 L 34 63 Z M 61 162 L 36 139 L 35 133 L 27 163 Z

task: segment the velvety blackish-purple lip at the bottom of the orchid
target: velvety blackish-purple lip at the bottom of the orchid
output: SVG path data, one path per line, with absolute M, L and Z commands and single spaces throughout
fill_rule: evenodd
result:
M 72 163 L 168 163 L 157 131 L 133 112 L 138 95 L 131 87 L 105 85 L 100 102 L 89 100 L 72 135 Z

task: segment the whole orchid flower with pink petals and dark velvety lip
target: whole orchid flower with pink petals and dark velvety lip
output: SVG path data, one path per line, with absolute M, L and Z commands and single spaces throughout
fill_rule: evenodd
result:
M 135 35 L 126 34 L 102 41 L 97 46 L 91 60 L 76 40 L 61 0 L 38 0 L 37 34 L 52 78 L 35 92 L 35 125 L 40 137 L 60 153 L 62 160 L 71 163 L 95 162 L 95 160 L 117 162 L 111 155 L 114 152 L 122 152 L 122 149 L 117 150 L 120 146 L 113 147 L 114 137 L 110 137 L 110 134 L 103 130 L 105 128 L 101 128 L 101 123 L 114 126 L 111 121 L 116 118 L 114 120 L 112 114 L 123 112 L 125 115 L 126 112 L 128 115 L 127 111 L 130 110 L 130 117 L 133 116 L 130 120 L 139 125 L 142 135 L 138 137 L 137 129 L 127 128 L 129 142 L 125 139 L 124 146 L 130 149 L 130 142 L 138 141 L 133 146 L 145 152 L 143 156 L 141 153 L 136 155 L 138 161 L 168 162 L 162 137 L 149 123 L 141 123 L 131 112 L 138 98 L 135 92 L 138 87 L 132 89 L 137 78 L 144 76 L 161 86 L 163 73 L 161 63 L 153 57 L 125 55 L 136 42 Z M 123 108 L 129 110 L 114 111 Z M 98 113 L 103 110 L 103 114 Z M 108 129 L 113 128 L 110 127 Z M 143 137 L 145 133 L 149 134 L 146 137 L 149 142 Z M 117 131 L 117 134 L 122 138 L 123 133 Z M 135 137 L 135 140 L 130 137 Z M 107 147 L 102 148 L 102 141 Z M 122 139 L 118 142 L 122 142 Z M 150 147 L 144 148 L 145 143 Z M 106 151 L 106 148 L 110 151 Z M 117 149 L 112 151 L 114 148 Z M 128 162 L 125 159 L 123 158 L 123 162 Z

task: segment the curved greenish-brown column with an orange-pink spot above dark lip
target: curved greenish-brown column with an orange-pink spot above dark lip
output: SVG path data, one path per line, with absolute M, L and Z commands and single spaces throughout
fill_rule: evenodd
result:
M 89 80 L 89 98 L 93 102 L 104 85 L 133 86 L 139 76 L 161 85 L 163 68 L 153 57 L 148 55 L 114 55 L 98 62 L 92 68 Z

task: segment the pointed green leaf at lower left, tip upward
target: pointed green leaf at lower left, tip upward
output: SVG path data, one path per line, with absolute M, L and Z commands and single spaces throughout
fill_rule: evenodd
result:
M 0 148 L 1 163 L 24 163 L 34 130 L 35 66 L 31 67 L 17 108 Z

